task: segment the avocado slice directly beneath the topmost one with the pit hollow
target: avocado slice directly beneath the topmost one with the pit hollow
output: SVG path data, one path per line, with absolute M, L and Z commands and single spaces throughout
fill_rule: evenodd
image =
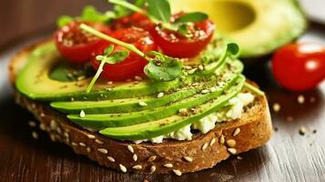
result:
M 229 70 L 229 67 L 232 67 L 234 70 Z M 229 72 L 240 74 L 243 71 L 243 66 L 239 61 L 231 61 L 228 65 L 225 64 L 224 66 L 221 66 L 219 71 L 221 75 Z M 218 82 L 218 80 L 210 82 L 215 83 Z M 204 85 L 207 84 L 198 83 L 198 86 L 195 88 L 185 87 L 177 92 L 173 92 L 160 98 L 157 98 L 157 95 L 153 95 L 105 101 L 53 102 L 51 103 L 51 106 L 67 114 L 79 114 L 81 110 L 86 114 L 128 113 L 147 110 L 158 106 L 165 106 L 169 103 L 188 98 L 189 96 L 194 96 L 200 90 L 204 89 Z M 147 106 L 139 106 L 139 102 L 145 102 L 147 103 Z

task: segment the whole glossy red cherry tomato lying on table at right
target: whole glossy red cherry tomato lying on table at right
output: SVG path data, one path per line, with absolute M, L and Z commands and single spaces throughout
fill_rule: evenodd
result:
M 272 70 L 279 85 L 289 90 L 315 88 L 325 78 L 325 46 L 286 45 L 273 57 Z

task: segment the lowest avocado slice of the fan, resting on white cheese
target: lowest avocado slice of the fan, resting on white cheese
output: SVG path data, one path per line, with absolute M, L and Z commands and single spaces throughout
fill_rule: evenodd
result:
M 143 124 L 123 127 L 107 127 L 99 131 L 100 134 L 119 140 L 141 140 L 156 136 L 167 135 L 173 131 L 188 126 L 204 116 L 218 111 L 219 108 L 226 106 L 234 96 L 237 96 L 245 83 L 245 77 L 239 76 L 236 84 L 231 86 L 223 95 L 209 101 L 208 103 L 196 107 L 196 114 L 191 116 L 169 116 L 156 121 Z

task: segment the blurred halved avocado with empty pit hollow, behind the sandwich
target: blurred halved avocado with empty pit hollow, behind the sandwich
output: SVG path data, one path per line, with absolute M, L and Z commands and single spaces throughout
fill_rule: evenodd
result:
M 174 12 L 202 11 L 229 41 L 239 44 L 240 56 L 272 53 L 300 36 L 307 27 L 295 0 L 172 0 Z

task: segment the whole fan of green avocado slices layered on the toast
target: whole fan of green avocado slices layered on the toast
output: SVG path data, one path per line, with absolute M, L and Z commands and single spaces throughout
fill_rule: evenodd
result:
M 198 121 L 237 96 L 245 82 L 238 52 L 238 45 L 216 39 L 198 57 L 204 70 L 184 70 L 184 76 L 170 82 L 99 80 L 86 94 L 89 73 L 62 65 L 55 45 L 48 42 L 28 56 L 16 87 L 31 99 L 51 102 L 78 126 L 116 139 L 147 139 Z M 66 70 L 76 77 L 70 79 Z M 181 109 L 190 112 L 181 116 Z

